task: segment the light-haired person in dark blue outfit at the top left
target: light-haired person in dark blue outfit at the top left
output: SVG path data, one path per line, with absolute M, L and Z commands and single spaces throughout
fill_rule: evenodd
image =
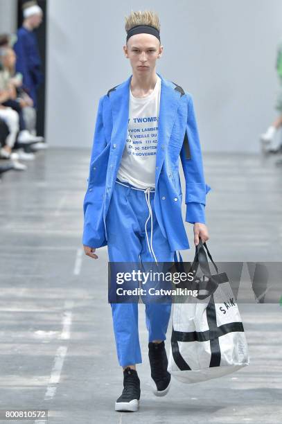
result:
M 44 76 L 41 71 L 42 62 L 34 30 L 42 23 L 43 12 L 36 1 L 28 1 L 23 6 L 24 22 L 17 30 L 17 42 L 14 50 L 17 55 L 16 72 L 23 76 L 24 87 L 33 99 L 33 107 L 37 108 L 37 88 L 42 84 Z

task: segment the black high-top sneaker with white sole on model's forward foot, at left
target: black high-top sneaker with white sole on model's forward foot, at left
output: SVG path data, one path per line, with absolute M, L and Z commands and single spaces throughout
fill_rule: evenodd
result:
M 140 380 L 135 369 L 129 366 L 123 371 L 123 393 L 116 399 L 116 411 L 135 412 L 139 407 Z

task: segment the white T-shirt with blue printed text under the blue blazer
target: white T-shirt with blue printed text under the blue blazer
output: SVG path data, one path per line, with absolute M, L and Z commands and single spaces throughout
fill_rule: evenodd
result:
M 134 97 L 130 89 L 127 140 L 117 178 L 138 188 L 155 187 L 161 78 L 152 93 Z

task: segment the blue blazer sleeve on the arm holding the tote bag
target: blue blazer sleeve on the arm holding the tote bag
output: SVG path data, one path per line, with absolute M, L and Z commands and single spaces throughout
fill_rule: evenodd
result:
M 200 139 L 197 130 L 193 98 L 188 96 L 188 117 L 186 123 L 186 135 L 188 138 L 190 156 L 187 157 L 187 150 L 184 143 L 180 152 L 182 168 L 184 171 L 186 190 L 186 222 L 195 224 L 195 222 L 206 223 L 204 206 L 206 205 L 206 194 L 211 187 L 205 183 L 204 169 L 202 164 L 202 152 Z

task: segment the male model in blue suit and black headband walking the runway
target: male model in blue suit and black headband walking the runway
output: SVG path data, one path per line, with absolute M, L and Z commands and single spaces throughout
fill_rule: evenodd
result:
M 126 19 L 125 57 L 132 76 L 109 89 L 98 105 L 84 200 L 85 254 L 98 258 L 107 245 L 109 261 L 172 262 L 177 249 L 189 249 L 182 220 L 179 157 L 186 178 L 186 221 L 194 224 L 194 242 L 209 239 L 204 206 L 202 154 L 191 95 L 156 72 L 161 57 L 159 18 L 155 12 L 131 12 Z M 116 411 L 136 411 L 142 362 L 138 303 L 111 303 L 123 391 Z M 146 303 L 148 355 L 153 392 L 164 396 L 170 373 L 164 340 L 171 304 Z

